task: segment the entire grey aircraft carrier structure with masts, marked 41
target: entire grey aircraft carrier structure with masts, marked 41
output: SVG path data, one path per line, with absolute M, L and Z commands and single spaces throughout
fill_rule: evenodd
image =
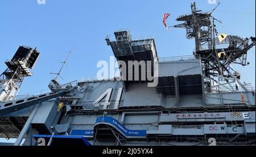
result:
M 195 40 L 191 56 L 161 58 L 153 37 L 119 29 L 105 39 L 118 78 L 61 84 L 57 73 L 40 95 L 16 95 L 40 55 L 20 46 L 0 77 L 0 137 L 15 146 L 255 145 L 255 88 L 232 68 L 248 65 L 255 37 L 218 34 L 196 3 L 176 20 L 170 28 Z

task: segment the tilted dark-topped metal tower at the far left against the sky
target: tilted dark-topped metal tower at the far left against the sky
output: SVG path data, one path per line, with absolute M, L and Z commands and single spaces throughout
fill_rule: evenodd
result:
M 25 77 L 32 76 L 30 70 L 39 57 L 36 49 L 19 46 L 14 57 L 6 61 L 7 69 L 0 75 L 0 101 L 13 100 Z

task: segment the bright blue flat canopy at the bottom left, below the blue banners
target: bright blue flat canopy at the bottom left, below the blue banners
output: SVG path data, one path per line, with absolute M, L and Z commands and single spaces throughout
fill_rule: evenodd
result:
M 38 140 L 43 138 L 46 140 L 46 145 L 51 138 L 51 135 L 33 135 Z M 75 135 L 53 135 L 51 146 L 90 146 L 90 143 L 82 136 Z

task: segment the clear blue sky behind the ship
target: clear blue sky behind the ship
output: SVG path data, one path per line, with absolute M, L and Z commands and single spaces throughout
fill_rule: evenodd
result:
M 38 5 L 37 0 L 1 1 L 0 73 L 19 45 L 37 47 L 41 53 L 39 61 L 19 94 L 47 90 L 54 77 L 49 73 L 59 71 L 60 62 L 73 47 L 63 70 L 64 80 L 60 82 L 93 78 L 99 70 L 97 62 L 109 61 L 113 55 L 105 37 L 110 34 L 114 38 L 113 32 L 118 28 L 129 28 L 134 37 L 154 35 L 159 57 L 190 55 L 195 49 L 194 40 L 185 38 L 184 29 L 171 28 L 167 32 L 162 18 L 170 12 L 167 23 L 177 24 L 177 16 L 188 14 L 194 1 L 203 11 L 216 6 L 209 5 L 207 0 L 46 0 L 46 5 Z M 254 0 L 222 0 L 213 15 L 222 21 L 217 23 L 219 33 L 255 36 Z M 242 72 L 242 81 L 255 86 L 255 48 L 249 51 L 248 61 L 250 66 L 234 67 Z

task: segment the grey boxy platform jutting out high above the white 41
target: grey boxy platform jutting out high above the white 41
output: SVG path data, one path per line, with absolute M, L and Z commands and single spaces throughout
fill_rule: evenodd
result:
M 123 67 L 123 65 L 118 62 L 122 71 L 126 71 L 126 75 L 121 73 L 123 77 L 123 85 L 127 88 L 129 83 L 143 83 L 151 81 L 146 77 L 143 77 L 142 74 L 146 74 L 146 76 L 147 73 L 150 73 L 151 76 L 154 74 L 154 62 L 158 61 L 154 37 L 138 37 L 133 40 L 131 39 L 130 32 L 127 30 L 115 31 L 114 35 L 116 39 L 115 41 L 110 41 L 109 36 L 107 36 L 106 42 L 111 46 L 117 61 L 123 61 L 126 63 L 126 67 Z M 136 66 L 134 61 L 139 62 L 138 74 L 137 72 L 134 72 Z M 141 61 L 144 61 L 144 64 Z M 135 64 L 129 65 L 129 62 L 134 62 Z M 148 70 L 147 66 L 151 66 L 151 69 Z M 142 67 L 144 67 L 144 69 Z M 129 69 L 132 71 L 129 71 Z

